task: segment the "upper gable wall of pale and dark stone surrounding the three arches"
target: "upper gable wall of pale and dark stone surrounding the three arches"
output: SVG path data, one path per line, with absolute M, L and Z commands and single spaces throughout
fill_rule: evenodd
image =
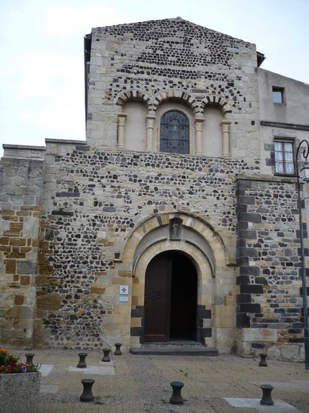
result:
M 209 103 L 222 106 L 239 156 L 259 157 L 255 45 L 180 17 L 94 28 L 87 39 L 91 145 L 102 145 L 104 136 L 106 145 L 115 146 L 115 105 L 120 112 L 126 100 L 137 99 L 155 114 L 169 93 L 199 116 Z

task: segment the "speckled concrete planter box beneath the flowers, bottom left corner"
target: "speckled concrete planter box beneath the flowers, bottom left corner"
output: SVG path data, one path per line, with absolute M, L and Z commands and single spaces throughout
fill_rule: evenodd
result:
M 40 372 L 0 374 L 0 412 L 38 412 L 40 382 Z

